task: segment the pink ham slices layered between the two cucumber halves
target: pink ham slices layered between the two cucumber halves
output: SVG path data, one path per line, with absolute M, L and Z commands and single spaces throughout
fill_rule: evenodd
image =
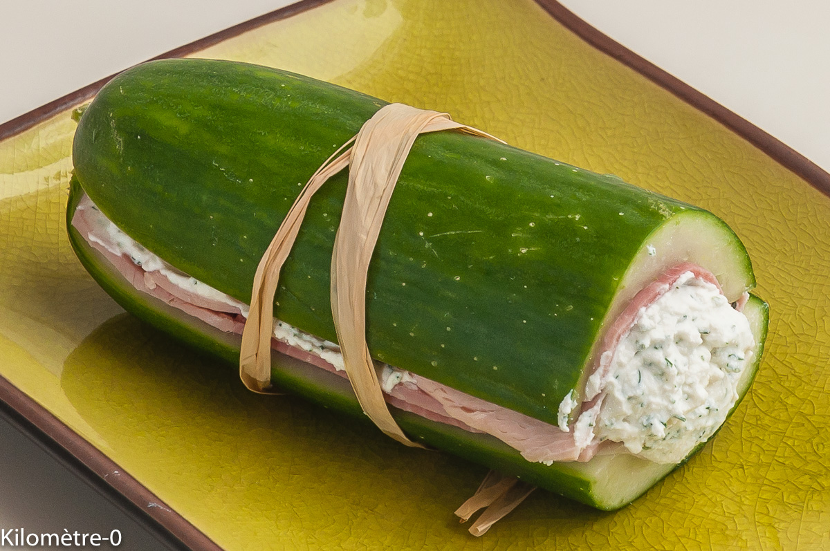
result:
M 91 208 L 92 203 L 84 197 L 72 220 L 72 225 L 137 290 L 163 300 L 166 304 L 183 310 L 188 315 L 202 319 L 217 329 L 242 334 L 245 319 L 236 306 L 227 305 L 173 285 L 159 271 L 144 271 L 129 256 L 117 255 L 110 251 L 106 246 L 97 242 L 100 236 L 90 239 L 90 234 L 94 233 L 94 223 L 88 217 Z M 718 285 L 714 275 L 691 263 L 682 263 L 666 271 L 658 280 L 637 293 L 632 302 L 623 310 L 623 314 L 611 324 L 603 337 L 601 348 L 603 354 L 599 355 L 593 368 L 608 368 L 612 351 L 631 328 L 640 309 L 651 305 L 687 271 L 691 271 L 698 279 Z M 720 285 L 718 288 L 720 289 Z M 742 306 L 740 302 L 739 306 Z M 334 365 L 316 354 L 276 339 L 272 339 L 271 345 L 282 354 L 346 377 L 343 371 L 338 371 Z M 620 451 L 621 446 L 613 442 L 603 442 L 601 445 L 593 443 L 585 448 L 579 448 L 574 443 L 573 431 L 563 432 L 554 425 L 461 393 L 454 388 L 419 375 L 413 375 L 413 378 L 414 383 L 403 382 L 393 387 L 386 395 L 387 402 L 394 407 L 413 412 L 435 422 L 460 427 L 469 432 L 484 432 L 495 436 L 508 446 L 520 451 L 528 461 L 589 461 L 597 453 Z M 582 408 L 590 407 L 591 403 L 593 401 L 583 402 Z

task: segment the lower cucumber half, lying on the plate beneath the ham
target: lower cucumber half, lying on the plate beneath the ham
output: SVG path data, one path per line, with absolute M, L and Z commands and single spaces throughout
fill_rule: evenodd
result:
M 83 189 L 75 178 L 71 183 L 66 226 L 69 239 L 81 264 L 119 305 L 149 324 L 229 363 L 237 363 L 241 337 L 223 333 L 201 319 L 193 318 L 164 301 L 136 290 L 119 271 L 84 240 L 71 220 Z M 750 295 L 745 314 L 752 327 L 756 350 L 754 363 L 743 373 L 738 393 L 745 396 L 758 371 L 764 350 L 769 309 L 763 300 Z M 277 388 L 298 394 L 321 406 L 331 407 L 369 422 L 354 397 L 348 381 L 282 354 L 273 354 L 272 376 Z M 738 402 L 740 403 L 740 401 Z M 735 404 L 730 416 L 735 408 Z M 578 500 L 600 510 L 616 510 L 637 499 L 676 466 L 658 465 L 634 456 L 596 456 L 587 463 L 541 463 L 525 461 L 518 451 L 486 434 L 466 432 L 457 427 L 432 422 L 413 413 L 390 407 L 393 417 L 409 436 L 429 446 L 488 466 L 537 485 L 545 490 Z M 714 436 L 713 436 L 714 437 Z M 698 447 L 691 455 L 704 445 Z

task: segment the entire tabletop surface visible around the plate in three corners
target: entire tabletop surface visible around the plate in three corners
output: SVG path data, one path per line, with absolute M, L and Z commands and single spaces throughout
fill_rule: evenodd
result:
M 0 122 L 290 0 L 29 0 L 0 4 Z M 564 0 L 610 37 L 830 170 L 830 3 Z M 26 45 L 22 49 L 21 45 Z M 39 476 L 22 475 L 23 471 Z M 34 481 L 33 481 L 34 480 Z M 138 524 L 0 421 L 0 529 Z M 150 545 L 150 547 L 148 547 Z M 2 547 L 2 544 L 0 544 Z

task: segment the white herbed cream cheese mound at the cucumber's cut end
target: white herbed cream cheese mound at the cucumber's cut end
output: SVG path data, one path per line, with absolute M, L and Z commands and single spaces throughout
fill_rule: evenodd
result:
M 715 285 L 682 274 L 588 378 L 595 401 L 574 424 L 577 445 L 610 440 L 650 461 L 682 461 L 725 421 L 754 346 L 746 316 Z

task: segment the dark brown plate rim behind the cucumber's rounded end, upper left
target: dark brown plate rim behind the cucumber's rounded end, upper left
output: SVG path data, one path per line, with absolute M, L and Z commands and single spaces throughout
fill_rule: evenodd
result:
M 199 40 L 190 42 L 184 46 L 179 46 L 173 50 L 165 51 L 163 54 L 152 57 L 147 61 L 167 59 L 169 57 L 187 56 L 197 51 L 204 50 L 214 44 L 218 44 L 228 38 L 241 35 L 243 32 L 251 31 L 256 27 L 262 27 L 268 23 L 286 19 L 287 17 L 291 17 L 300 12 L 305 12 L 313 7 L 318 7 L 328 2 L 331 2 L 331 0 L 301 0 L 300 2 L 296 2 L 290 6 L 282 7 L 281 9 L 273 12 L 268 12 L 259 17 L 254 17 L 253 19 L 241 22 L 233 27 L 227 27 L 227 29 L 223 29 L 222 31 L 214 32 L 212 35 L 200 38 Z M 103 85 L 112 80 L 116 75 L 118 75 L 118 73 L 105 76 L 101 80 L 96 80 L 92 84 L 86 85 L 80 90 L 75 90 L 74 92 L 61 96 L 57 100 L 50 101 L 46 105 L 41 105 L 37 109 L 31 110 L 23 115 L 0 124 L 0 140 L 11 138 L 13 135 L 20 134 L 21 132 L 32 128 L 35 124 L 49 119 L 51 116 L 57 115 L 63 110 L 69 109 L 73 105 L 78 105 L 82 101 L 90 100 Z

